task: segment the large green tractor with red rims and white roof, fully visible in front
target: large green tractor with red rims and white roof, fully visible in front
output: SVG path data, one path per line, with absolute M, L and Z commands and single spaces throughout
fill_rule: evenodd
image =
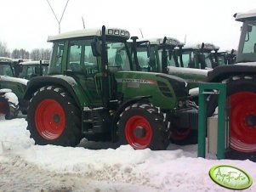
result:
M 48 76 L 31 78 L 27 129 L 36 144 L 76 146 L 81 138 L 165 150 L 171 127 L 197 129 L 187 83 L 134 71 L 129 32 L 82 30 L 48 37 Z

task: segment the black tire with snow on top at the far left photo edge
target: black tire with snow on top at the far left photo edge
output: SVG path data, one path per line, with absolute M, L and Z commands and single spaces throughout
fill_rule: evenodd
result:
M 3 96 L 0 96 L 0 108 L 0 113 L 5 114 L 6 120 L 11 120 L 18 116 L 19 106 L 8 102 Z

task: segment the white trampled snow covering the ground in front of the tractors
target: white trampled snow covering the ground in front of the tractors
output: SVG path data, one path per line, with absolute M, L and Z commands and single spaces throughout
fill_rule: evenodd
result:
M 0 116 L 0 191 L 230 191 L 208 176 L 219 164 L 240 167 L 253 178 L 256 163 L 196 157 L 196 145 L 168 150 L 88 150 L 35 145 L 24 118 Z

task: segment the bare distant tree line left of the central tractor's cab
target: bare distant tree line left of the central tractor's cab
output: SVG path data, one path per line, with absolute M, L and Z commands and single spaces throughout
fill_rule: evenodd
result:
M 33 60 L 48 60 L 50 59 L 51 49 L 49 48 L 34 48 L 31 52 L 24 48 L 14 48 L 11 52 L 6 42 L 0 41 L 0 57 L 9 57 L 12 59 L 33 59 Z

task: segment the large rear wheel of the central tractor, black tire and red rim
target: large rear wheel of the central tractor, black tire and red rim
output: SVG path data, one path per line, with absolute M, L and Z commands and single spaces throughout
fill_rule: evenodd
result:
M 82 138 L 81 111 L 63 88 L 37 90 L 29 102 L 27 122 L 36 144 L 76 146 Z

